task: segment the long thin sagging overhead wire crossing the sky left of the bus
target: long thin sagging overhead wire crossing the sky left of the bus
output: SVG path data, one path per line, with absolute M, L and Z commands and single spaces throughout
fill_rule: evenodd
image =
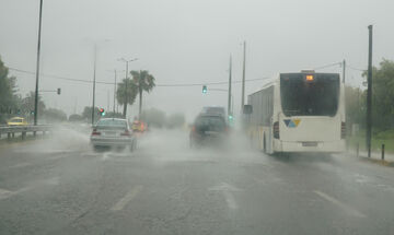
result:
M 26 73 L 26 74 L 32 74 L 34 75 L 35 72 L 32 71 L 27 71 L 27 70 L 22 70 L 22 69 L 16 69 L 16 68 L 11 68 L 9 67 L 9 70 L 15 71 L 15 72 L 22 72 L 22 73 Z M 66 77 L 60 77 L 60 75 L 54 75 L 54 74 L 44 74 L 42 73 L 43 77 L 47 77 L 47 78 L 54 78 L 54 79 L 59 79 L 59 80 L 66 80 L 66 81 L 71 81 L 71 82 L 83 82 L 83 83 L 93 83 L 93 81 L 89 81 L 89 80 L 82 80 L 82 79 L 71 79 L 71 78 L 66 78 Z M 259 81 L 259 80 L 265 80 L 267 78 L 262 78 L 262 79 L 248 79 L 245 80 L 247 82 L 252 82 L 252 81 Z M 233 81 L 232 83 L 241 83 L 242 81 Z M 114 85 L 114 82 L 100 82 L 96 81 L 96 83 L 100 84 L 107 84 L 107 85 Z M 207 82 L 207 83 L 174 83 L 174 84 L 157 84 L 155 86 L 161 86 L 161 87 L 176 87 L 176 86 L 200 86 L 200 85 L 222 85 L 222 84 L 228 84 L 228 81 L 223 81 L 223 82 Z

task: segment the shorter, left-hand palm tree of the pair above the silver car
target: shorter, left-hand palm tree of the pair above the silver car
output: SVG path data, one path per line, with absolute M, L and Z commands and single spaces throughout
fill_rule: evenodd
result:
M 127 93 L 126 93 L 127 87 Z M 120 83 L 118 83 L 118 87 L 116 91 L 116 99 L 117 102 L 124 106 L 123 116 L 126 118 L 127 105 L 132 105 L 136 101 L 137 96 L 137 86 L 130 79 L 124 79 Z M 127 101 L 126 101 L 127 97 Z

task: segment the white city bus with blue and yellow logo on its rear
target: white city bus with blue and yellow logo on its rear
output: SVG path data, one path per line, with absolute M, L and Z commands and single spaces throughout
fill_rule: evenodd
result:
M 280 73 L 247 103 L 250 137 L 265 153 L 345 150 L 345 89 L 338 73 Z

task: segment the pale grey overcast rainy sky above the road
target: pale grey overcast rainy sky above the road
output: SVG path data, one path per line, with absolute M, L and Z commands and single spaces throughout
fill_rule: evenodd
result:
M 39 0 L 0 0 L 0 56 L 5 66 L 35 71 Z M 97 81 L 113 82 L 114 69 L 124 78 L 131 70 L 149 70 L 157 84 L 205 83 L 242 78 L 242 42 L 246 40 L 246 79 L 339 62 L 367 67 L 368 30 L 374 25 L 373 63 L 394 59 L 393 0 L 44 0 L 42 69 L 45 74 L 92 80 L 93 48 L 97 45 Z M 338 66 L 326 72 L 340 72 Z M 34 74 L 15 71 L 21 94 L 34 91 Z M 351 85 L 360 72 L 347 69 Z M 246 83 L 246 94 L 264 81 Z M 40 90 L 62 89 L 60 96 L 43 94 L 49 107 L 68 114 L 92 104 L 92 84 L 40 77 Z M 209 89 L 227 85 L 158 86 L 143 106 L 169 114 L 185 111 L 190 119 L 202 106 L 227 106 L 227 93 Z M 96 104 L 113 107 L 113 85 L 97 84 Z M 241 84 L 233 85 L 235 114 Z M 138 103 L 138 101 L 136 102 Z M 137 105 L 131 107 L 137 113 Z

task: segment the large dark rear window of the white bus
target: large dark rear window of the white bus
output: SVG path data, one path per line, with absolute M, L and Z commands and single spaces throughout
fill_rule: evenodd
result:
M 312 78 L 312 77 L 309 77 Z M 335 116 L 339 101 L 339 74 L 280 75 L 280 97 L 286 116 Z

